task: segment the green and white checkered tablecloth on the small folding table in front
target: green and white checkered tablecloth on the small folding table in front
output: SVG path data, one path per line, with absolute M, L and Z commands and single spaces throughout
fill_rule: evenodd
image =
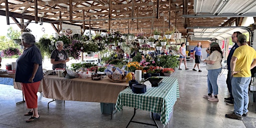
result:
M 115 108 L 120 111 L 122 106 L 129 106 L 160 113 L 160 121 L 163 125 L 166 125 L 168 115 L 172 111 L 172 106 L 177 98 L 179 98 L 177 78 L 163 77 L 159 86 L 149 88 L 142 94 L 133 93 L 129 87 L 120 91 Z

